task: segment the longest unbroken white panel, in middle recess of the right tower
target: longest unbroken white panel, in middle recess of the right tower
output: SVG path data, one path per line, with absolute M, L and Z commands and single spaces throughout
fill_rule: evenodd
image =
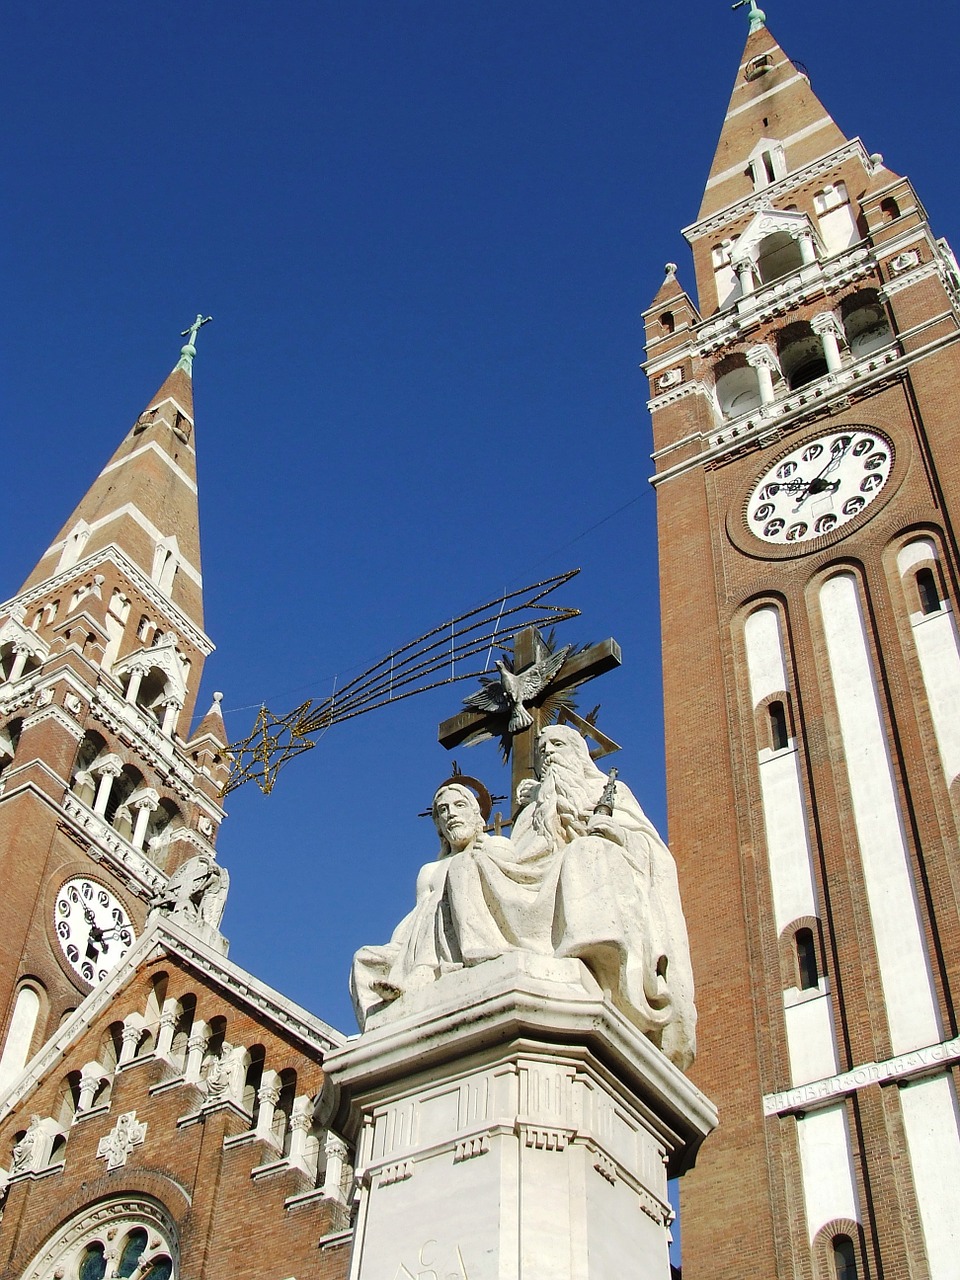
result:
M 820 588 L 867 900 L 895 1053 L 940 1039 L 940 1021 L 856 581 Z

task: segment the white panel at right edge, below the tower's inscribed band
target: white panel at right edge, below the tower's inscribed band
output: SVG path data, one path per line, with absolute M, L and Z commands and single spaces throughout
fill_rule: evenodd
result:
M 950 1076 L 900 1091 L 931 1280 L 960 1274 L 960 1124 Z

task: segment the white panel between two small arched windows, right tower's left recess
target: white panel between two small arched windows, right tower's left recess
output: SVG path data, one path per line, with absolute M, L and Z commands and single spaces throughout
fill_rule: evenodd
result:
M 773 916 L 780 936 L 791 920 L 818 914 L 799 753 L 771 753 L 760 759 L 759 769 Z

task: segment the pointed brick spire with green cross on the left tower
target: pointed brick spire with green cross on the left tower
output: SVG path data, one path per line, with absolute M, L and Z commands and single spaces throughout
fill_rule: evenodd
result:
M 197 467 L 193 447 L 196 334 L 157 393 L 81 499 L 22 590 L 115 545 L 202 628 Z

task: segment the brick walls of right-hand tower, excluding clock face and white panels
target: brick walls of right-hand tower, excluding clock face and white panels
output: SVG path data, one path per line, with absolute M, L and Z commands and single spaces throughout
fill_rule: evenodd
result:
M 771 147 L 778 140 L 782 159 Z M 758 182 L 749 157 L 762 143 L 773 159 Z M 850 234 L 842 244 L 831 243 L 835 232 L 824 212 L 847 206 L 840 216 L 849 216 Z M 778 227 L 790 225 L 769 216 L 781 212 L 805 228 L 806 260 L 801 246 L 791 260 L 786 233 L 774 238 Z M 758 218 L 769 219 L 765 232 L 758 230 Z M 918 1171 L 918 1139 L 911 1148 L 914 1121 L 908 1117 L 905 1129 L 901 1091 L 929 1079 L 923 1074 L 928 1059 L 950 1057 L 942 1046 L 957 1033 L 956 778 L 938 739 L 938 708 L 925 682 L 931 669 L 922 668 L 915 636 L 923 621 L 920 570 L 936 575 L 934 612 L 951 613 L 956 600 L 956 264 L 909 182 L 844 138 L 805 73 L 763 27 L 748 41 L 699 220 L 685 234 L 699 307 L 669 271 L 645 314 L 669 836 L 698 983 L 692 1076 L 721 1114 L 718 1133 L 681 1187 L 685 1275 L 837 1280 L 836 1249 L 846 1245 L 836 1242 L 849 1240 L 859 1276 L 946 1276 L 950 1233 L 934 1221 L 943 1206 L 931 1201 L 931 1179 Z M 758 239 L 753 265 L 737 283 L 723 269 L 736 264 L 737 253 L 741 262 L 749 257 L 751 234 L 771 239 Z M 786 253 L 783 270 L 771 268 L 771 257 L 764 261 L 773 252 Z M 840 334 L 832 370 L 819 364 L 829 357 L 826 342 L 818 347 L 820 321 L 808 328 L 824 312 Z M 868 312 L 873 337 L 863 339 L 858 325 Z M 791 352 L 797 334 L 806 346 Z M 753 381 L 750 372 L 762 347 L 773 357 L 765 397 L 759 374 Z M 788 360 L 797 349 L 809 364 L 791 374 Z M 744 388 L 745 397 L 724 402 L 722 379 L 737 370 L 726 387 Z M 760 477 L 774 475 L 797 447 L 823 447 L 844 429 L 876 433 L 892 448 L 882 490 L 822 536 L 808 530 L 795 544 L 764 540 L 748 516 Z M 806 518 L 801 504 L 796 511 Z M 891 805 L 902 820 L 913 897 L 913 905 L 902 902 L 902 918 L 906 927 L 915 913 L 936 1005 L 937 1033 L 909 1046 L 922 1051 L 913 1070 L 897 1057 L 891 1032 L 884 992 L 896 975 L 878 954 L 879 905 L 876 890 L 870 901 L 865 870 L 872 850 L 860 833 L 868 815 L 858 810 L 844 730 L 854 710 L 837 692 L 831 668 L 837 654 L 831 657 L 820 607 L 823 584 L 837 573 L 851 576 L 864 618 L 863 662 L 876 676 Z M 746 627 L 764 607 L 778 620 L 786 687 L 777 681 L 754 705 Z M 786 801 L 782 792 L 776 803 L 765 800 L 762 783 L 763 762 L 772 758 L 772 700 L 785 704 L 795 753 L 813 906 L 781 929 L 776 897 L 778 891 L 788 897 L 791 886 L 772 852 L 771 831 L 786 820 Z M 861 716 L 858 723 L 867 721 Z M 804 928 L 815 942 L 837 1068 L 813 1076 L 797 1065 L 804 1046 L 791 1046 L 787 1027 L 804 998 L 795 966 Z M 890 1060 L 900 1074 L 883 1083 L 835 1093 L 822 1083 Z M 936 1071 L 943 1074 L 942 1061 Z M 955 1110 L 954 1073 L 951 1059 L 946 1076 Z M 773 1094 L 797 1102 L 777 1107 Z M 827 1102 L 833 1132 L 847 1134 L 849 1170 L 822 1164 L 814 1178 L 809 1151 L 806 1169 L 803 1156 L 813 1129 L 799 1129 L 808 1119 L 820 1123 L 817 1115 L 826 1124 Z M 957 1142 L 956 1134 L 948 1138 Z M 851 1212 L 831 1215 L 831 1196 Z

